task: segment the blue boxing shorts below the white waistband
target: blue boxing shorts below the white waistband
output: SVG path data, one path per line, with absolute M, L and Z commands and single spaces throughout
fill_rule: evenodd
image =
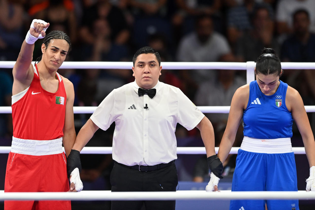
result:
M 294 153 L 238 150 L 232 191 L 297 191 Z M 231 200 L 230 210 L 299 210 L 298 200 Z M 243 208 L 242 208 L 243 207 Z

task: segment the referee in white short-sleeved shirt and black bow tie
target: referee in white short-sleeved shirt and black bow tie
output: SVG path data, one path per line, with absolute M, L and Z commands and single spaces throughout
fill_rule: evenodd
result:
M 210 170 L 221 177 L 223 166 L 215 155 L 211 122 L 179 88 L 158 81 L 160 64 L 160 55 L 151 47 L 135 53 L 132 67 L 135 82 L 108 94 L 81 128 L 67 159 L 69 175 L 76 167 L 80 170 L 79 151 L 96 130 L 106 130 L 115 122 L 112 192 L 176 191 L 177 123 L 187 130 L 195 127 L 200 130 Z M 112 209 L 137 210 L 143 204 L 146 210 L 175 209 L 175 201 L 112 201 Z

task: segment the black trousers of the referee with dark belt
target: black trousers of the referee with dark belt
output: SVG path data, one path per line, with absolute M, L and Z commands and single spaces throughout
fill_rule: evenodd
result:
M 115 162 L 111 178 L 112 192 L 176 191 L 178 184 L 175 163 L 150 172 L 127 168 Z M 175 201 L 112 201 L 112 210 L 175 210 Z

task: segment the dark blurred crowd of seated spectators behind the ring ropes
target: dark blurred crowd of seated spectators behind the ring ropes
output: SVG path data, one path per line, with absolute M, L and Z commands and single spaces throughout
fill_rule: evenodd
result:
M 314 0 L 0 0 L 0 61 L 17 59 L 31 20 L 41 19 L 50 23 L 48 32 L 64 31 L 71 38 L 73 50 L 66 61 L 131 62 L 138 48 L 151 46 L 162 62 L 256 61 L 264 47 L 274 48 L 282 62 L 315 62 L 314 11 Z M 40 56 L 41 44 L 41 40 L 35 43 L 33 60 Z M 58 72 L 74 85 L 74 106 L 97 106 L 114 88 L 134 81 L 131 66 Z M 0 106 L 10 106 L 12 69 L 1 69 L 0 77 Z M 305 105 L 315 105 L 314 70 L 285 70 L 280 79 L 299 91 Z M 229 106 L 235 90 L 246 84 L 246 73 L 162 70 L 160 81 L 180 88 L 197 106 Z M 314 132 L 315 116 L 308 114 Z M 77 131 L 89 116 L 75 115 Z M 207 116 L 218 146 L 227 114 Z M 241 143 L 241 127 L 234 146 Z M 113 128 L 97 131 L 87 146 L 111 146 Z M 299 135 L 297 128 L 294 133 Z M 202 146 L 194 129 L 188 132 L 178 125 L 176 135 L 178 146 Z M 9 146 L 10 138 L 12 116 L 0 114 L 1 146 Z M 82 156 L 86 157 L 81 159 L 83 180 L 93 183 L 109 176 L 110 155 Z M 179 169 L 179 178 L 203 181 L 208 173 L 205 160 L 179 158 L 177 164 L 184 168 Z M 232 163 L 224 164 L 226 174 L 235 163 L 233 156 L 228 160 Z M 184 164 L 187 161 L 197 162 L 195 170 Z

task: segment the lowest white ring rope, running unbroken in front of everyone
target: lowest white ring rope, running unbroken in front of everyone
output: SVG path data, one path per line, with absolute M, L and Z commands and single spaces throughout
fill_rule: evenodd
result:
M 144 201 L 144 200 L 315 200 L 315 192 L 299 191 L 238 191 L 178 190 L 176 192 L 111 192 L 109 190 L 81 192 L 0 192 L 4 200 L 72 200 L 72 201 Z

